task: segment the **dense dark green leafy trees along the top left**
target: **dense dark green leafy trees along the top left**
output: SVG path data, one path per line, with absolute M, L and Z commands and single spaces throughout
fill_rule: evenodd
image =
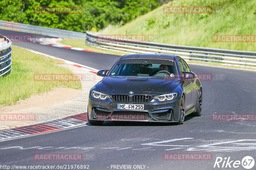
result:
M 86 32 L 120 24 L 152 11 L 163 0 L 1 0 L 1 20 Z M 35 7 L 82 7 L 79 14 L 37 14 Z

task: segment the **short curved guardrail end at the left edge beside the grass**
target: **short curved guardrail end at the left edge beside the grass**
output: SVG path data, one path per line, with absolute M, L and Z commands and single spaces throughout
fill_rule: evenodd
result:
M 11 72 L 12 41 L 0 34 L 0 77 Z

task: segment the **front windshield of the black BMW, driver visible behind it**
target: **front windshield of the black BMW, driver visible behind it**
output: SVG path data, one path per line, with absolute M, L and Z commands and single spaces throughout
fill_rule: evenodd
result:
M 108 74 L 109 76 L 177 76 L 173 60 L 122 59 Z

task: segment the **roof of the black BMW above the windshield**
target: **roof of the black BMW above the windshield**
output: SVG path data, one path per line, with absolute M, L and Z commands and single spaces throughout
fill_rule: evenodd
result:
M 120 59 L 162 59 L 162 60 L 174 60 L 175 55 L 168 54 L 128 54 L 124 55 Z

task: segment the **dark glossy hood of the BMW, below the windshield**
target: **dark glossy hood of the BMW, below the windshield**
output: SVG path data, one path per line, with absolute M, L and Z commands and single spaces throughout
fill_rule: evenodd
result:
M 178 84 L 180 79 L 166 80 L 163 77 L 138 76 L 106 76 L 97 85 L 96 90 L 109 95 L 134 94 L 159 95 L 169 93 Z

